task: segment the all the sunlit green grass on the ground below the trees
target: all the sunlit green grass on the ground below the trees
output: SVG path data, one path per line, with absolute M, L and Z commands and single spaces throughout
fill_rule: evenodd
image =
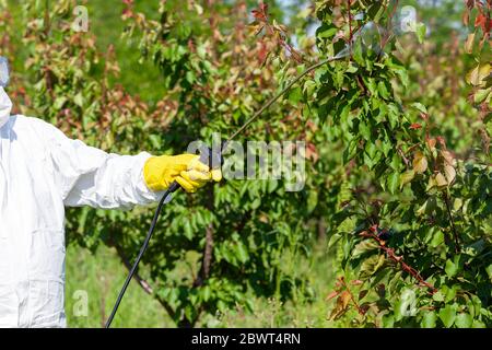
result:
M 329 327 L 328 304 L 325 296 L 332 288 L 331 259 L 321 248 L 313 259 L 286 259 L 295 275 L 307 276 L 313 298 L 297 296 L 294 302 L 250 295 L 253 313 L 241 307 L 203 319 L 206 327 Z M 294 264 L 295 262 L 295 264 Z M 66 312 L 72 328 L 103 327 L 128 271 L 116 253 L 102 246 L 93 255 L 87 249 L 71 245 L 67 249 Z M 85 307 L 86 305 L 86 307 Z M 134 281 L 115 317 L 113 327 L 175 327 L 160 303 L 147 294 Z

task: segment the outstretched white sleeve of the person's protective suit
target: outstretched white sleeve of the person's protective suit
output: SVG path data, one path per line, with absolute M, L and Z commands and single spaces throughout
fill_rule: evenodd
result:
M 151 154 L 118 155 L 66 137 L 40 121 L 54 166 L 56 185 L 67 207 L 129 209 L 159 201 L 163 192 L 148 188 L 143 165 Z

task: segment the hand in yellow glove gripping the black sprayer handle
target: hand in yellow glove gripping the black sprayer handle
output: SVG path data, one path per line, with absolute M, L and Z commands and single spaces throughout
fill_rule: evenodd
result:
M 145 184 L 153 191 L 161 191 L 176 180 L 187 192 L 196 192 L 211 180 L 220 182 L 222 172 L 210 171 L 199 159 L 199 155 L 189 153 L 152 156 L 143 166 Z

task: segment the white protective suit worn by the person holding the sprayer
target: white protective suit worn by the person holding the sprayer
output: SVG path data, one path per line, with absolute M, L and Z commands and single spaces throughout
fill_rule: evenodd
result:
M 156 201 L 149 153 L 108 154 L 36 118 L 0 88 L 0 327 L 65 327 L 65 207 Z

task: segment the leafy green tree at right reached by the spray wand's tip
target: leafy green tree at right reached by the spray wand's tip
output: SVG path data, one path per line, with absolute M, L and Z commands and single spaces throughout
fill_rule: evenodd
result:
M 427 108 L 408 103 L 413 86 L 398 38 L 383 35 L 371 49 L 356 35 L 368 22 L 391 27 L 391 13 L 387 1 L 317 2 L 321 52 L 353 43 L 349 60 L 318 72 L 313 98 L 350 168 L 328 219 L 338 223 L 331 243 L 344 275 L 330 294 L 331 317 L 359 326 L 490 326 L 488 150 L 475 150 L 472 162 L 457 159 Z

